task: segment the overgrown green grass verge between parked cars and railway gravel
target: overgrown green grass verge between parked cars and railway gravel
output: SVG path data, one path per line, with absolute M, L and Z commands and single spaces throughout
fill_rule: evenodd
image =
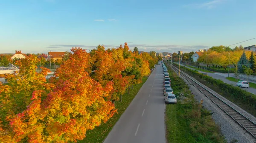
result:
M 191 94 L 186 83 L 169 68 L 177 104 L 166 105 L 166 138 L 168 143 L 226 143 L 211 113 Z M 182 100 L 180 96 L 185 96 Z

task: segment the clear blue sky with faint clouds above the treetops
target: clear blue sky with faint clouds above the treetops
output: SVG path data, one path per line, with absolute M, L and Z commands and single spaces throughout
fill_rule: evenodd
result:
M 256 0 L 0 0 L 0 53 L 124 42 L 170 53 L 227 46 L 256 37 L 255 7 Z

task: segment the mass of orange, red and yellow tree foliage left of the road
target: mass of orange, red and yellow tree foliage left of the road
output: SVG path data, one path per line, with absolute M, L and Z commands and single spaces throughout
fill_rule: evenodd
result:
M 8 113 L 0 118 L 1 141 L 18 142 L 25 137 L 29 143 L 81 140 L 87 130 L 117 113 L 111 101 L 134 82 L 131 68 L 140 68 L 141 75 L 149 70 L 145 60 L 142 66 L 136 64 L 134 57 L 143 60 L 143 56 L 132 54 L 127 43 L 107 51 L 100 45 L 91 53 L 79 47 L 71 51 L 73 55 L 55 71 L 51 83 L 45 79 L 49 69 L 41 67 L 36 73 L 38 59 L 30 56 L 19 62 L 18 75 L 8 77 L 12 86 L 0 84 L 0 108 Z M 4 120 L 9 125 L 2 125 Z

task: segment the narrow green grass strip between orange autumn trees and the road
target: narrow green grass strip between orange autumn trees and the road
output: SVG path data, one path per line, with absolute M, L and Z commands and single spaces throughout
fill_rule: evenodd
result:
M 116 101 L 115 107 L 118 114 L 113 115 L 106 123 L 102 123 L 100 126 L 94 128 L 93 130 L 88 130 L 86 132 L 86 137 L 84 140 L 78 140 L 78 143 L 102 143 L 105 138 L 108 136 L 108 133 L 111 131 L 113 126 L 121 117 L 122 113 L 125 112 L 125 109 L 130 105 L 131 101 L 139 92 L 140 88 L 143 86 L 148 77 L 142 79 L 142 83 L 134 85 L 134 89 L 130 91 L 130 94 L 127 93 L 122 95 L 122 102 Z

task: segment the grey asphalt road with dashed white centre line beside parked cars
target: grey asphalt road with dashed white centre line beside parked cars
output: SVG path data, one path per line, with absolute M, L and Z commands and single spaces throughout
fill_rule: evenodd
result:
M 162 84 L 157 65 L 103 143 L 166 143 Z

